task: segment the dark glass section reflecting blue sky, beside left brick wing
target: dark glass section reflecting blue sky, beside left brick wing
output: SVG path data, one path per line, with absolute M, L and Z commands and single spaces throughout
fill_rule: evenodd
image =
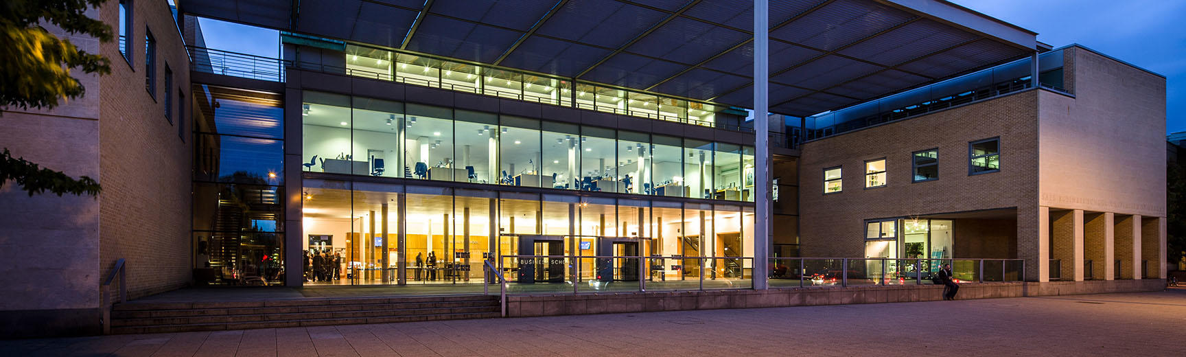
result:
M 193 85 L 193 276 L 283 283 L 281 96 Z

